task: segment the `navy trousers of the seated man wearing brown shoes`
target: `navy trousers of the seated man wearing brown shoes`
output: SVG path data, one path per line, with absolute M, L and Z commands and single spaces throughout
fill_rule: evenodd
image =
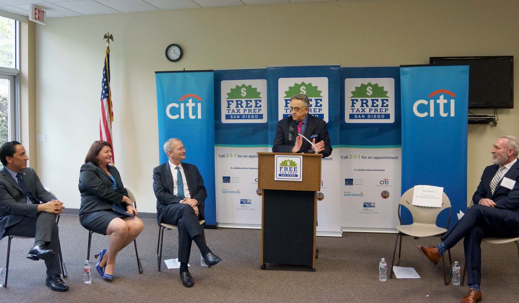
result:
M 443 236 L 446 249 L 465 237 L 467 283 L 481 284 L 481 240 L 487 237 L 517 237 L 519 222 L 515 212 L 476 204 Z M 508 224 L 508 225 L 507 225 Z

